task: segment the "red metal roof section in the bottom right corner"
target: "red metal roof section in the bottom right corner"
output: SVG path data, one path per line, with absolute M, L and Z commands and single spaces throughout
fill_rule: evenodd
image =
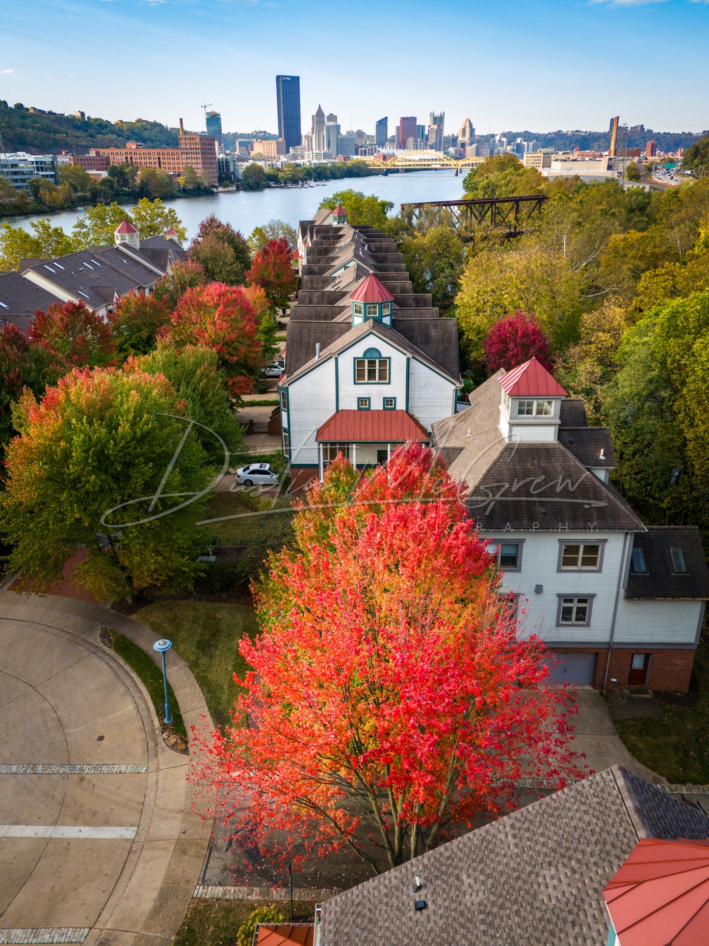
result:
M 709 840 L 641 838 L 603 896 L 622 946 L 709 942 Z

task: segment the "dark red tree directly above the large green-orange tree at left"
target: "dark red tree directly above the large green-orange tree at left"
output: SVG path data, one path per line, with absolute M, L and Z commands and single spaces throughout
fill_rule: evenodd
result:
M 108 364 L 115 351 L 111 325 L 83 302 L 50 303 L 38 308 L 29 326 L 32 342 L 43 342 L 69 365 Z

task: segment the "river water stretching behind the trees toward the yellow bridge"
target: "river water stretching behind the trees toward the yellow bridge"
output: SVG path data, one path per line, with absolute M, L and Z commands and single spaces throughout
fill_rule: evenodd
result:
M 271 219 L 285 220 L 285 223 L 297 228 L 299 220 L 313 218 L 323 198 L 348 188 L 392 201 L 394 207 L 391 213 L 398 214 L 400 203 L 457 200 L 462 197 L 463 176 L 456 177 L 452 170 L 411 171 L 403 174 L 392 172 L 387 177 L 372 175 L 366 178 L 342 178 L 313 187 L 268 187 L 265 190 L 232 191 L 209 197 L 186 197 L 164 203 L 167 207 L 175 208 L 187 228 L 188 238 L 195 236 L 199 222 L 209 214 L 216 214 L 220 220 L 231 223 L 234 229 L 249 236 L 254 227 Z M 130 210 L 128 204 L 126 207 Z M 16 217 L 9 219 L 9 222 L 28 230 L 32 220 L 43 216 L 46 215 Z M 68 233 L 82 215 L 76 210 L 67 210 L 49 216 L 52 226 L 61 226 Z

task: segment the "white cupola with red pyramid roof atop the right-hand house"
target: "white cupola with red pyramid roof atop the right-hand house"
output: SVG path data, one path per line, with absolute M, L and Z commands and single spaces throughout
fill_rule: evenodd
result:
M 566 392 L 533 358 L 499 378 L 502 389 L 499 429 L 508 442 L 557 439 L 562 398 Z

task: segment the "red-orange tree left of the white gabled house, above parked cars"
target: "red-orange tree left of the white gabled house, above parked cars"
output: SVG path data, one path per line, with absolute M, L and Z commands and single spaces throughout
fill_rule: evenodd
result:
M 214 348 L 226 372 L 230 394 L 246 394 L 263 360 L 257 327 L 253 307 L 241 286 L 210 283 L 182 294 L 158 337 L 179 348 Z

